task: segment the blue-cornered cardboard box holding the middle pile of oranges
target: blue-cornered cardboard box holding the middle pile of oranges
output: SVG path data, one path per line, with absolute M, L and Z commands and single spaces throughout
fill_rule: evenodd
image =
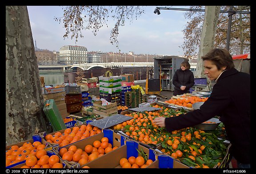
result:
M 117 134 L 115 133 L 113 130 L 111 129 L 104 129 L 102 133 L 100 134 L 96 134 L 96 135 L 93 135 L 91 137 L 88 137 L 86 139 L 82 139 L 80 141 L 77 141 L 76 143 L 72 143 L 72 144 L 69 144 L 67 146 L 63 146 L 63 147 L 60 147 L 59 148 L 59 151 L 60 149 L 62 148 L 69 148 L 71 145 L 75 145 L 77 148 L 81 148 L 82 150 L 84 150 L 84 147 L 88 144 L 92 145 L 93 146 L 93 142 L 96 141 L 96 140 L 99 140 L 101 141 L 101 139 L 103 137 L 107 137 L 108 138 L 108 143 L 111 143 L 112 144 L 112 147 L 121 147 L 122 145 L 124 145 L 124 142 L 125 140 L 127 139 L 126 137 L 120 135 L 120 134 Z M 108 154 L 105 154 L 105 155 L 108 155 Z M 105 156 L 103 155 L 103 156 Z M 101 156 L 101 157 L 103 157 Z M 98 160 L 100 159 L 101 157 L 95 159 L 95 160 Z M 93 161 L 95 161 L 93 160 Z M 77 163 L 77 162 L 68 162 L 67 160 L 64 160 L 66 163 L 68 163 L 68 166 L 67 168 L 80 168 L 80 164 Z M 112 160 L 111 160 L 112 161 Z M 85 164 L 86 165 L 86 164 Z

